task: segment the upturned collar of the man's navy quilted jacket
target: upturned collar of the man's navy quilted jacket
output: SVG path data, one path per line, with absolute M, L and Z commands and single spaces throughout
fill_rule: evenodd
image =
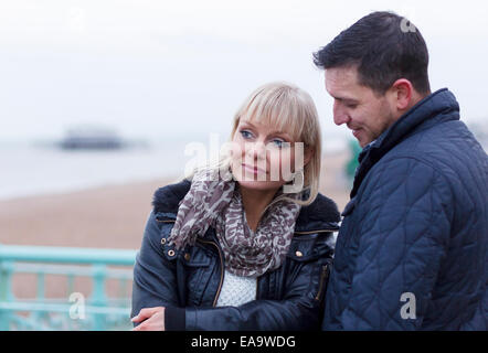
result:
M 447 120 L 459 120 L 459 105 L 447 88 L 438 89 L 413 106 L 373 143 L 368 145 L 361 151 L 351 199 L 358 193 L 368 171 L 393 147 L 415 132 Z

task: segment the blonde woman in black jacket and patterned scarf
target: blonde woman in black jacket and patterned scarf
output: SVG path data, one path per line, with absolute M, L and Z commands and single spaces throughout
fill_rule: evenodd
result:
M 230 145 L 223 173 L 156 192 L 134 269 L 135 330 L 320 328 L 339 213 L 318 193 L 311 97 L 285 83 L 257 88 Z

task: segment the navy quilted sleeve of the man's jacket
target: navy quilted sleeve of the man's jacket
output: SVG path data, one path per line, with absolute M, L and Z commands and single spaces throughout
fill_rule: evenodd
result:
M 449 243 L 450 186 L 411 158 L 382 163 L 363 182 L 351 289 L 336 319 L 344 330 L 416 330 Z

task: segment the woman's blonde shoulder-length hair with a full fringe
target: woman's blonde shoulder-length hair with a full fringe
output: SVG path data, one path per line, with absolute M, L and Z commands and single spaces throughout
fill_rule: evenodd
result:
M 310 161 L 304 168 L 306 200 L 294 200 L 308 205 L 317 197 L 320 180 L 321 137 L 320 124 L 314 99 L 304 89 L 285 82 L 272 82 L 255 89 L 234 116 L 231 139 L 241 119 L 268 124 L 279 131 L 289 131 L 305 150 L 311 150 Z

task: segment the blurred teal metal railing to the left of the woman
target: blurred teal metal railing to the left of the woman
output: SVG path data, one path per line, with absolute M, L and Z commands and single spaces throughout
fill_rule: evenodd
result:
M 129 330 L 136 254 L 129 249 L 0 244 L 0 331 Z M 14 293 L 13 281 L 22 274 L 36 278 L 35 284 L 29 284 L 35 287 L 33 298 Z M 46 297 L 46 276 L 65 277 L 64 297 Z M 89 293 L 75 291 L 75 280 L 81 277 L 91 281 Z M 118 282 L 116 296 L 107 291 L 107 284 L 114 281 Z

